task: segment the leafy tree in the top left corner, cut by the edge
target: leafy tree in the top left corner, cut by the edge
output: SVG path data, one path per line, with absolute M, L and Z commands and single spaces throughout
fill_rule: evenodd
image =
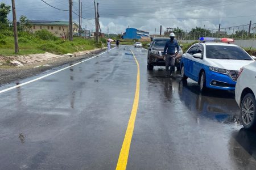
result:
M 0 29 L 6 29 L 9 25 L 9 20 L 7 19 L 8 14 L 11 11 L 11 6 L 5 5 L 5 3 L 0 3 Z

